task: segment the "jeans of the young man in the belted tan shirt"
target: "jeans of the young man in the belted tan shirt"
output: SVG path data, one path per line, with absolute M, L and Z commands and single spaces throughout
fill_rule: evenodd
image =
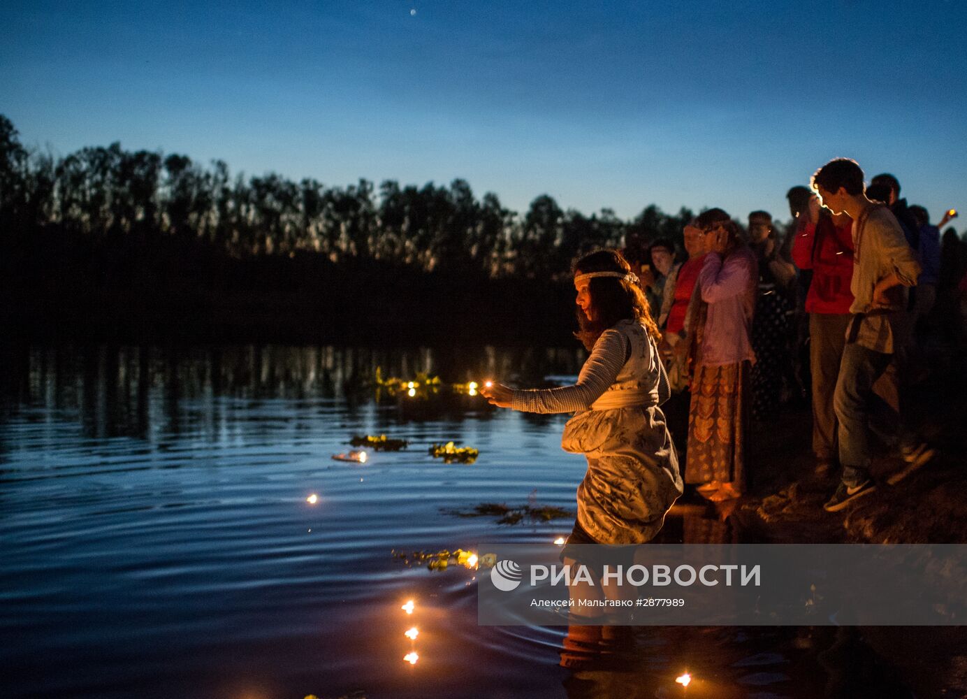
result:
M 892 359 L 892 354 L 874 352 L 856 342 L 847 342 L 843 348 L 833 405 L 839 421 L 842 481 L 847 487 L 856 487 L 869 479 L 873 384 Z

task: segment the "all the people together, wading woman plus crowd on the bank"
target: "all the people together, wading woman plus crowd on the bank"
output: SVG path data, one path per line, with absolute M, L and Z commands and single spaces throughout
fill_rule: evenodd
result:
M 685 226 L 681 262 L 667 240 L 645 259 L 584 255 L 576 336 L 590 355 L 577 382 L 481 390 L 499 407 L 573 413 L 562 447 L 588 470 L 565 560 L 585 555 L 578 544 L 652 539 L 686 483 L 710 501 L 741 497 L 750 428 L 768 428 L 797 395 L 812 402 L 817 472 L 840 477 L 825 510 L 875 490 L 877 440 L 902 460 L 891 482 L 933 457 L 900 409 L 936 298 L 939 226 L 899 198 L 893 175 L 866 187 L 855 160 L 831 160 L 809 184 L 787 194 L 796 223 L 782 241 L 767 212 L 743 230 L 716 208 Z

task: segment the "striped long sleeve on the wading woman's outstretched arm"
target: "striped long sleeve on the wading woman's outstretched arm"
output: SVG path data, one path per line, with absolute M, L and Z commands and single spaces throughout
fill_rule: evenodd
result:
M 587 410 L 614 383 L 628 361 L 628 338 L 606 330 L 595 342 L 591 356 L 581 367 L 577 383 L 557 389 L 512 391 L 511 407 L 527 413 L 573 413 Z

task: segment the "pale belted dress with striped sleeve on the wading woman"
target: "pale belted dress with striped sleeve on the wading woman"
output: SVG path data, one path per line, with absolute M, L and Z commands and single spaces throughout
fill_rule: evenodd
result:
M 574 412 L 561 446 L 587 456 L 577 521 L 599 543 L 654 538 L 682 494 L 678 455 L 659 408 L 668 393 L 658 348 L 634 320 L 601 334 L 573 386 L 513 392 L 514 410 Z

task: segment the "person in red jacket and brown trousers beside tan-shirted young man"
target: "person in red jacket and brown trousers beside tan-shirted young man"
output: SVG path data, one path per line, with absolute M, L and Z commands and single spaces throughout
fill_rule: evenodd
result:
M 837 462 L 833 394 L 853 303 L 852 228 L 851 218 L 823 211 L 813 194 L 799 217 L 792 247 L 796 267 L 812 270 L 806 312 L 812 373 L 812 452 L 817 474 L 826 473 Z

